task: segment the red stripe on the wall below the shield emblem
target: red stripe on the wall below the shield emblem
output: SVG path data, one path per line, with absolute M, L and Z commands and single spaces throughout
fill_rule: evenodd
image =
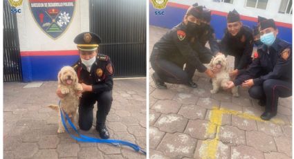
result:
M 21 57 L 25 56 L 66 56 L 79 55 L 78 50 L 45 50 L 45 51 L 21 51 Z

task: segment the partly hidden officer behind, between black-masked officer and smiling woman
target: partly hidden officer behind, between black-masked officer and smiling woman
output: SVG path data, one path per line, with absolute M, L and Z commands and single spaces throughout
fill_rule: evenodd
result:
M 208 64 L 212 56 L 220 52 L 214 29 L 210 26 L 210 20 L 211 11 L 208 8 L 203 8 L 201 19 L 202 29 L 196 31 L 195 39 L 192 41 L 192 48 L 199 53 L 199 59 L 203 64 Z M 206 43 L 210 45 L 210 48 L 205 47 Z

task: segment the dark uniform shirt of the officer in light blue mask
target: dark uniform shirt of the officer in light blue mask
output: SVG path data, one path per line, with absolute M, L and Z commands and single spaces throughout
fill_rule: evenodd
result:
M 235 86 L 247 79 L 253 79 L 255 85 L 263 84 L 266 79 L 292 82 L 292 45 L 277 38 L 270 47 L 260 46 L 246 72 L 235 79 Z

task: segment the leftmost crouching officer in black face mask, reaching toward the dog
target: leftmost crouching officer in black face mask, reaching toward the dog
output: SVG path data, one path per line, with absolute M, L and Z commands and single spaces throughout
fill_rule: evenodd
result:
M 202 6 L 190 7 L 183 22 L 169 30 L 154 44 L 150 62 L 155 73 L 151 77 L 158 88 L 167 88 L 165 82 L 196 88 L 196 84 L 189 77 L 194 72 L 187 72 L 187 69 L 183 71 L 183 64 L 186 64 L 186 68 L 194 67 L 199 72 L 214 77 L 212 71 L 200 62 L 197 53 L 190 46 L 194 30 L 201 27 L 201 12 Z

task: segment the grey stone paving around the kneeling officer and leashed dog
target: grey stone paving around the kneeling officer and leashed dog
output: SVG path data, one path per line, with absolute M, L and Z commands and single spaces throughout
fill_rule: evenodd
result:
M 115 80 L 113 104 L 107 118 L 111 138 L 136 143 L 143 149 L 146 149 L 145 81 L 145 78 Z M 24 86 L 26 83 L 3 84 L 4 158 L 146 158 L 128 147 L 81 143 L 67 133 L 57 134 L 57 113 L 47 107 L 59 101 L 55 95 L 57 82 L 44 82 L 39 88 Z M 82 133 L 99 136 L 95 127 Z

